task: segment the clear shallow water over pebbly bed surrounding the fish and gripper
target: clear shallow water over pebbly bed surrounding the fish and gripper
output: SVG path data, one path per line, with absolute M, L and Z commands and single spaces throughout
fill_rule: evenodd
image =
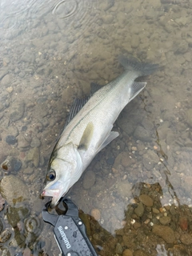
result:
M 2 255 L 59 254 L 41 215 L 50 154 L 74 98 L 122 73 L 119 54 L 161 68 L 69 197 L 98 255 L 192 254 L 191 17 L 189 0 L 0 1 Z

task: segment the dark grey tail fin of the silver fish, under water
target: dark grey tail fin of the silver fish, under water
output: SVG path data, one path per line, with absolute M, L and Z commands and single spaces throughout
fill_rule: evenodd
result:
M 126 58 L 125 56 L 119 56 L 118 60 L 125 70 L 138 72 L 139 76 L 152 74 L 154 71 L 158 70 L 158 64 L 139 62 L 138 59 L 134 57 Z

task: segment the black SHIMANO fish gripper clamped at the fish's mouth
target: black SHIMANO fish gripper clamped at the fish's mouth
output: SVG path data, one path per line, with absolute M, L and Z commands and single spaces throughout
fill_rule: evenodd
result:
M 42 209 L 42 218 L 54 226 L 54 237 L 63 256 L 98 256 L 89 238 L 86 226 L 78 217 L 78 207 L 70 199 L 62 198 L 67 207 L 66 214 L 55 215 L 48 212 L 50 202 Z

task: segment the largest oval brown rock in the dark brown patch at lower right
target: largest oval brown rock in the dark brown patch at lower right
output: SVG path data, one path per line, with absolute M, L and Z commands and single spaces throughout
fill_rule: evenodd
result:
M 157 234 L 163 240 L 168 243 L 172 243 L 175 240 L 174 230 L 172 230 L 169 226 L 161 226 L 154 224 L 152 232 Z

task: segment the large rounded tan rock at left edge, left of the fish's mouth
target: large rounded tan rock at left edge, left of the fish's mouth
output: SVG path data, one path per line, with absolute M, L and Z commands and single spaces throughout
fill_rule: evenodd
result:
M 28 187 L 20 178 L 14 175 L 2 178 L 0 192 L 10 206 L 14 206 L 17 202 L 29 201 L 30 199 Z

